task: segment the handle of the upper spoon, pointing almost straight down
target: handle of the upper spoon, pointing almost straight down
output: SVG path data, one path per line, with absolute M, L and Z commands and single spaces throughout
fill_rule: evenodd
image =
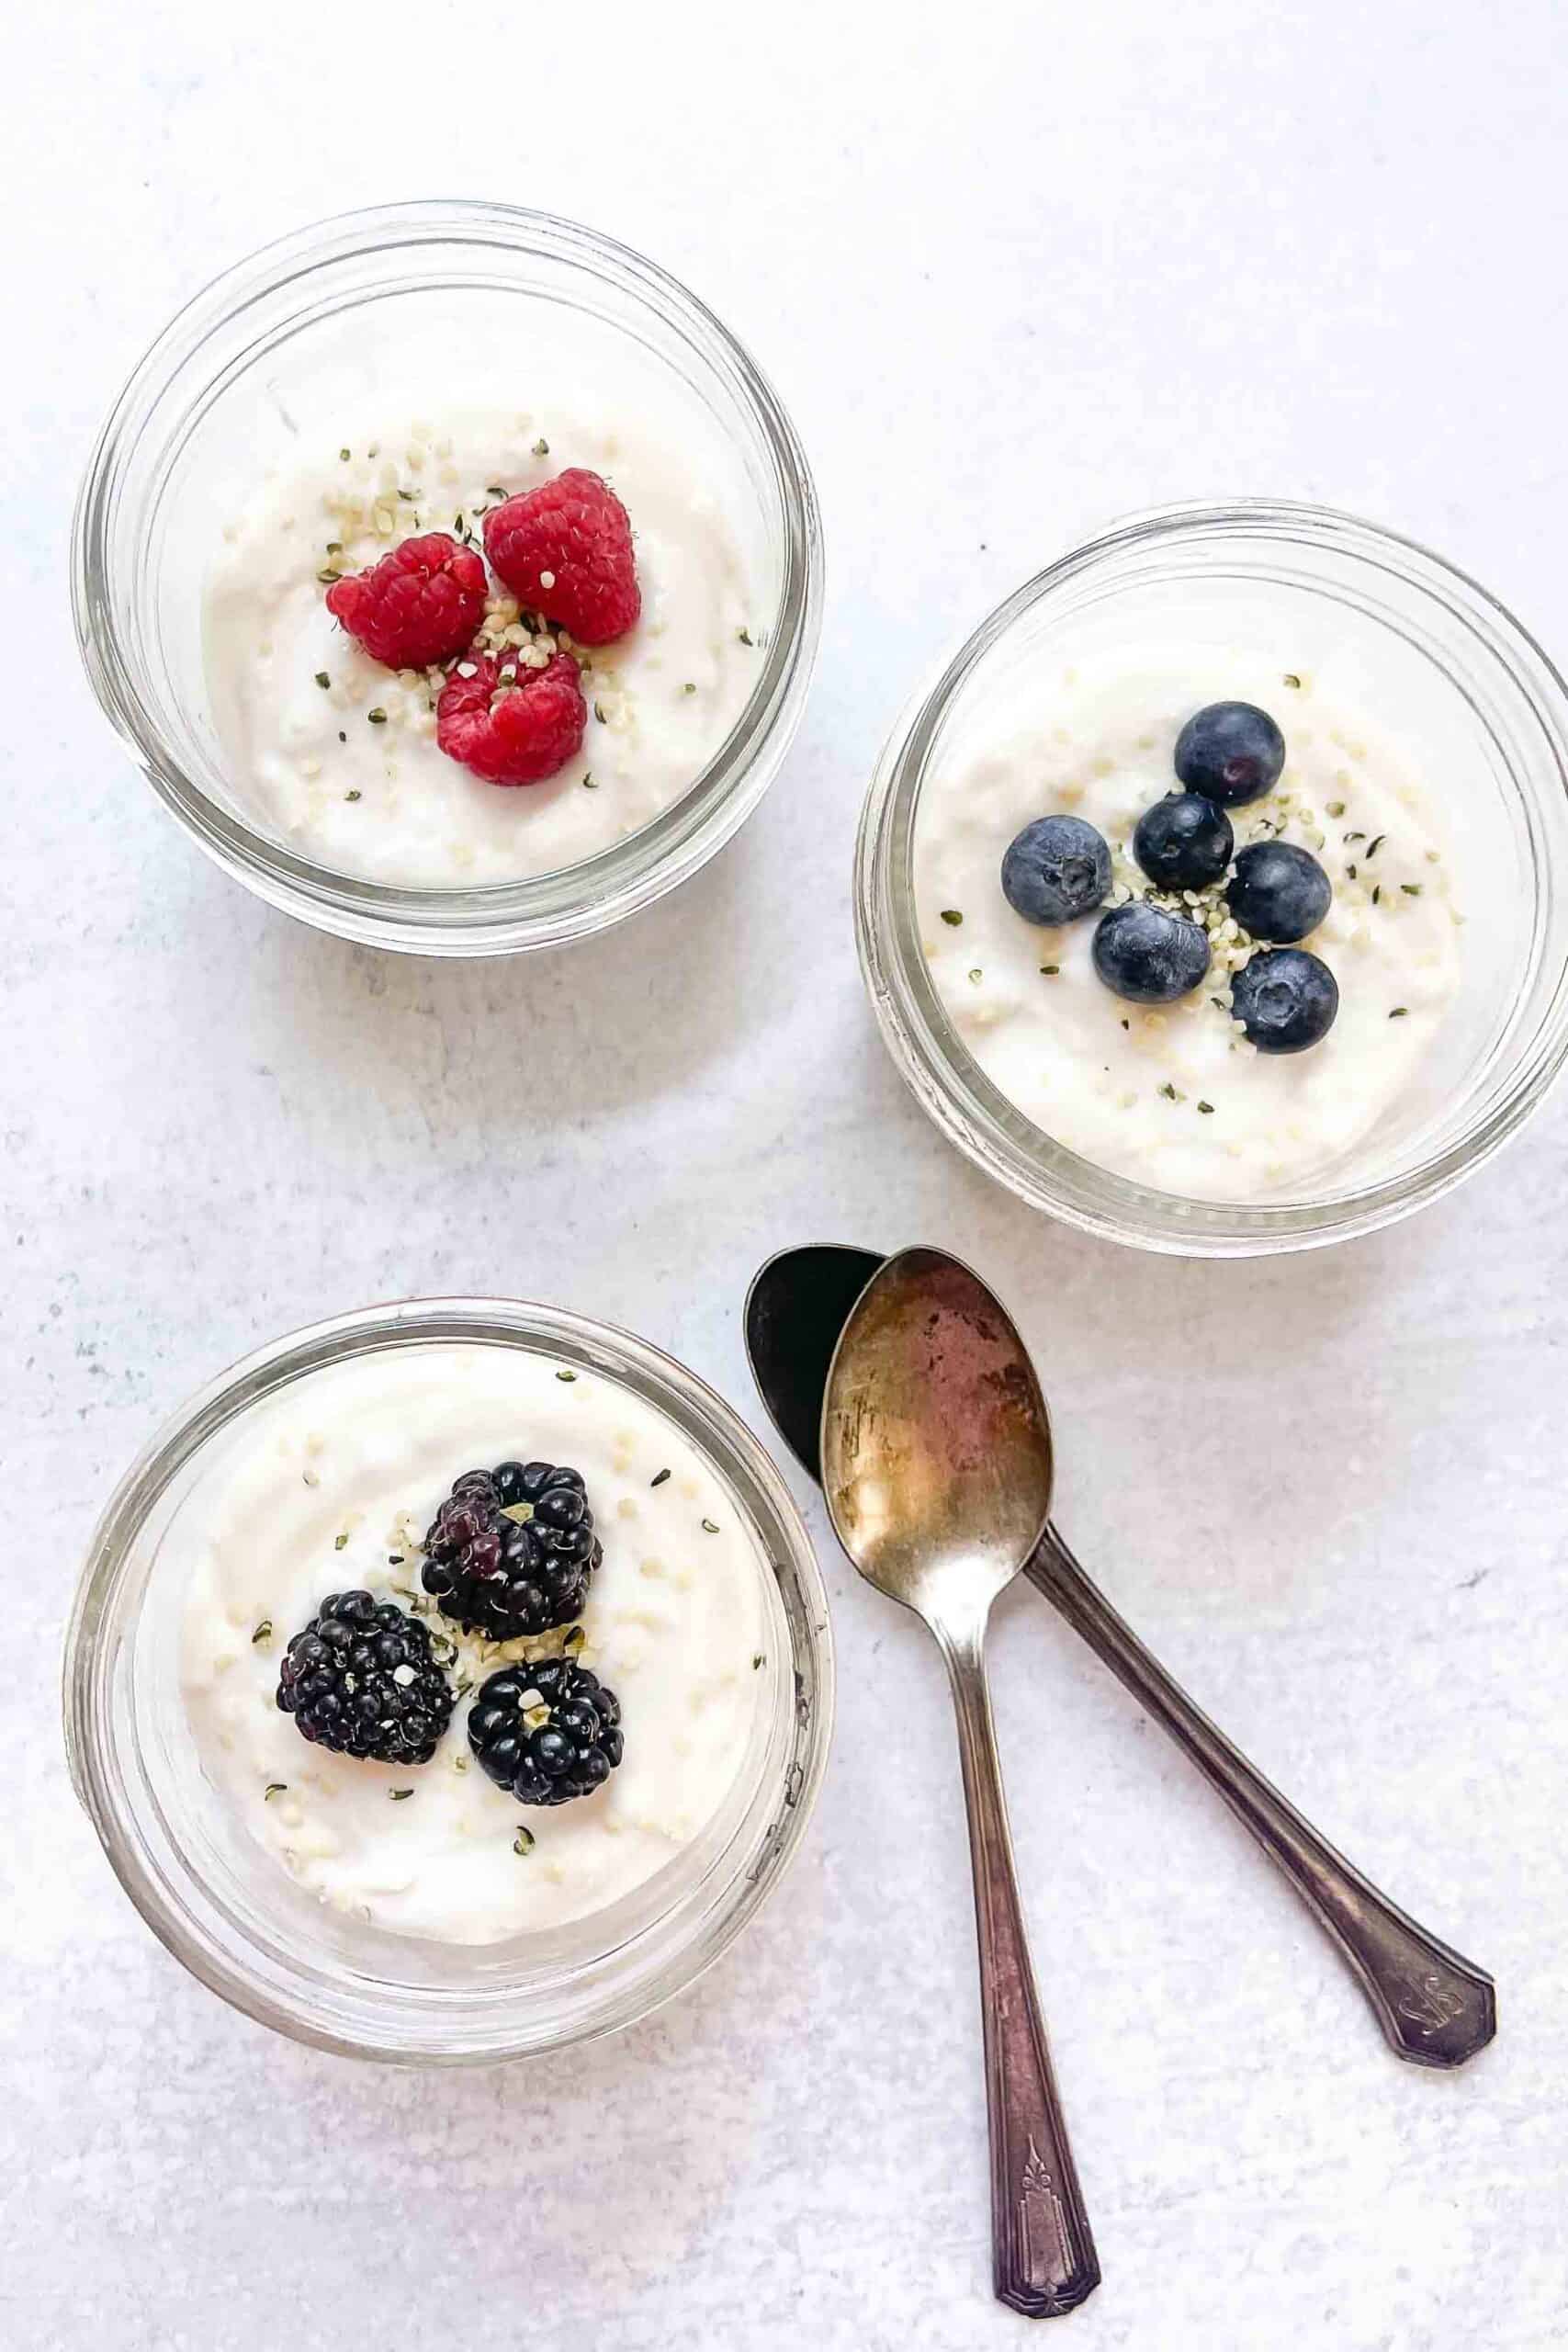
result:
M 985 1625 L 938 1628 L 959 1717 L 969 1851 L 976 1872 L 985 2105 L 992 2150 L 992 2284 L 1030 2319 L 1077 2310 L 1100 2284 L 1100 2263 L 1067 2147 L 1046 2020 L 1025 1940 L 1013 1839 L 1006 1825 L 997 1729 L 985 1684 Z

